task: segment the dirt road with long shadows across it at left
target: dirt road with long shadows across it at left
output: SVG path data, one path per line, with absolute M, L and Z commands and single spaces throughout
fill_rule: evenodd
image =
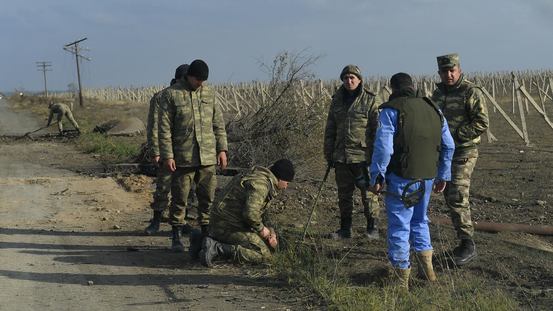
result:
M 0 135 L 44 123 L 7 105 Z M 144 236 L 149 196 L 70 144 L 0 140 L 0 159 L 0 310 L 301 309 L 260 268 L 205 269 L 171 253 L 166 224 Z

